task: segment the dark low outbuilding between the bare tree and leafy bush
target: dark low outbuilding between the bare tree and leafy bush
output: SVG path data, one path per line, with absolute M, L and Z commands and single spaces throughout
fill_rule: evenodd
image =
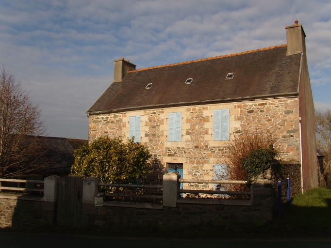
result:
M 38 174 L 70 172 L 75 162 L 74 150 L 88 140 L 67 139 L 59 137 L 38 137 L 42 147 L 47 151 L 38 161 L 44 164 L 37 170 Z

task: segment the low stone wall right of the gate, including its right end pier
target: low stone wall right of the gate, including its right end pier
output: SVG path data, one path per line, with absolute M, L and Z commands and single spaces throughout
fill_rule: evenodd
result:
M 82 224 L 102 227 L 159 226 L 178 228 L 212 223 L 226 225 L 230 222 L 265 223 L 272 219 L 271 180 L 258 180 L 251 186 L 250 200 L 177 199 L 176 207 L 143 205 L 140 208 L 122 207 L 125 202 L 104 202 L 104 206 L 83 203 Z M 187 202 L 187 203 L 183 203 Z M 107 204 L 108 203 L 108 204 Z M 108 206 L 107 206 L 108 205 Z M 129 204 L 128 204 L 129 205 Z M 153 209 L 151 209 L 153 207 Z M 157 207 L 160 207 L 157 209 Z

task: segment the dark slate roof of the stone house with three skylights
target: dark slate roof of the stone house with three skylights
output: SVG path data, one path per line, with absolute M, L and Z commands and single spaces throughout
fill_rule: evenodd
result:
M 301 54 L 286 56 L 286 45 L 128 73 L 113 82 L 87 111 L 119 112 L 296 94 Z M 225 80 L 228 73 L 232 79 Z M 193 78 L 191 84 L 184 84 Z M 153 83 L 150 89 L 147 84 Z

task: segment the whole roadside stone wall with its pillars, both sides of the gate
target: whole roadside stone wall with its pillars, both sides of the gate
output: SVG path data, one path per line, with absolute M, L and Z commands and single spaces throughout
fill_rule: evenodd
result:
M 56 209 L 54 198 L 57 195 L 58 179 L 57 176 L 45 178 L 43 198 L 0 194 L 0 228 L 33 229 L 54 224 L 57 211 L 61 211 Z M 95 206 L 99 182 L 95 177 L 83 180 L 83 226 L 172 228 L 206 223 L 258 224 L 273 217 L 273 187 L 272 180 L 268 179 L 259 179 L 251 185 L 250 200 L 186 199 L 179 198 L 179 174 L 167 173 L 164 175 L 162 205 L 154 208 L 150 207 L 150 203 L 125 204 L 129 202 L 112 201 Z M 71 207 L 74 210 L 75 206 Z

